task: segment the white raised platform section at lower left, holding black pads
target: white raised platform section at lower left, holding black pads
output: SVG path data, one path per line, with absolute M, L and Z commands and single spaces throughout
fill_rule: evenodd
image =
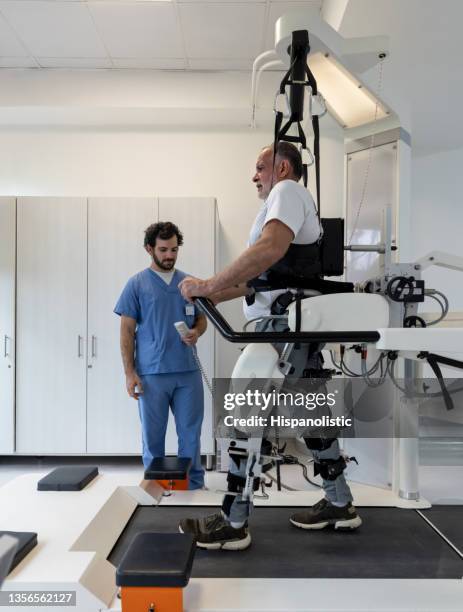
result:
M 99 475 L 83 491 L 37 491 L 45 475 L 19 476 L 0 488 L 2 530 L 38 533 L 38 545 L 3 589 L 77 591 L 78 610 L 106 609 L 116 593 L 106 557 L 137 505 L 156 501 L 138 486 L 141 473 Z

